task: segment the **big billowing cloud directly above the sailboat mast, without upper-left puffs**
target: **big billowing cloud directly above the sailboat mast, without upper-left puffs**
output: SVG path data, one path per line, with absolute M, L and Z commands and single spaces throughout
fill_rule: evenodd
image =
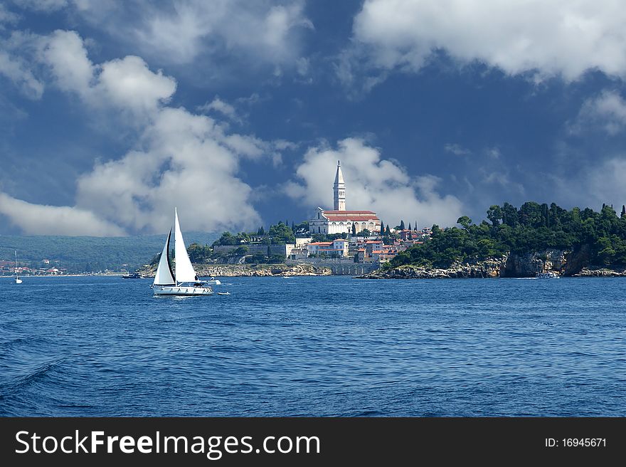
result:
M 252 188 L 237 172 L 240 157 L 262 153 L 261 142 L 226 135 L 211 118 L 173 108 L 155 116 L 142 141 L 144 150 L 97 164 L 80 177 L 77 205 L 129 231 L 165 231 L 174 206 L 185 229 L 260 224 L 250 204 Z

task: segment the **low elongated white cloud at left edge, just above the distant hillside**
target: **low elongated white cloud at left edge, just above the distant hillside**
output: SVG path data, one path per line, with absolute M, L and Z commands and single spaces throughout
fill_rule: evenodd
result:
M 24 234 L 123 236 L 119 226 L 92 211 L 69 206 L 44 206 L 15 199 L 0 191 L 0 214 Z

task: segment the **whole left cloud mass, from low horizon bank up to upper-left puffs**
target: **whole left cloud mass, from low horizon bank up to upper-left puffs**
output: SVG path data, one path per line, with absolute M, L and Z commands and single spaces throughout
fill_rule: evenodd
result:
M 96 111 L 134 112 L 139 132 L 132 150 L 98 159 L 78 178 L 75 206 L 45 206 L 1 197 L 0 214 L 32 234 L 161 233 L 174 206 L 185 229 L 253 229 L 261 224 L 253 188 L 238 177 L 244 159 L 275 159 L 285 145 L 228 131 L 206 115 L 166 105 L 173 78 L 154 73 L 137 56 L 92 63 L 83 39 L 55 31 L 41 39 L 55 83 Z M 222 110 L 226 107 L 222 107 Z

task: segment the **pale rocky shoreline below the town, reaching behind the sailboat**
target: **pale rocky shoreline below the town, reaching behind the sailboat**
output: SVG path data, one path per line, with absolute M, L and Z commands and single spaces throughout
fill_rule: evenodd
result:
M 329 268 L 311 264 L 194 264 L 198 277 L 271 277 L 271 276 L 330 276 Z M 137 271 L 144 277 L 154 277 L 156 266 Z

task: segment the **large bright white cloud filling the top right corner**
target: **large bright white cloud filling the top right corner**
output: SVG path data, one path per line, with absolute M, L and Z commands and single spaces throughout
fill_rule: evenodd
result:
M 387 70 L 418 70 L 445 49 L 511 75 L 575 80 L 589 69 L 626 75 L 625 23 L 619 0 L 366 0 L 354 41 Z

